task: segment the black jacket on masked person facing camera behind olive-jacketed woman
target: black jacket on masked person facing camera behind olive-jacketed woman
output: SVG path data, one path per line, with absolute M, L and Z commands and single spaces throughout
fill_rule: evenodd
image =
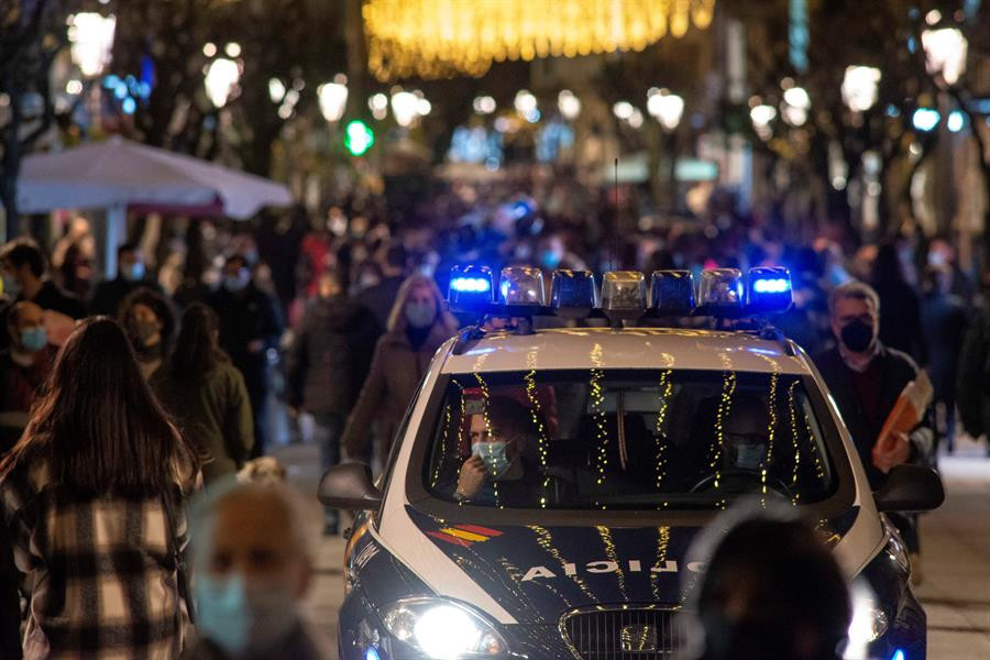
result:
M 278 348 L 284 329 L 275 299 L 252 282 L 239 294 L 221 287 L 207 304 L 220 318 L 220 345 L 244 375 L 248 392 L 253 396 L 267 392 L 267 350 Z M 249 351 L 248 344 L 258 339 L 264 348 Z

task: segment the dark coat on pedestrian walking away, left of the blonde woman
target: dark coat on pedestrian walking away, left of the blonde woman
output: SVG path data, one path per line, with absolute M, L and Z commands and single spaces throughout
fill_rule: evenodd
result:
M 371 366 L 372 312 L 345 296 L 317 298 L 286 356 L 288 403 L 315 415 L 346 415 Z

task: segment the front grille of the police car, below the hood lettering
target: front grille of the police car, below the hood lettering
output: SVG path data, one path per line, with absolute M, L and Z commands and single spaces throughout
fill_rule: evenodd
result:
M 686 638 L 676 609 L 654 606 L 572 612 L 560 628 L 582 660 L 669 660 Z

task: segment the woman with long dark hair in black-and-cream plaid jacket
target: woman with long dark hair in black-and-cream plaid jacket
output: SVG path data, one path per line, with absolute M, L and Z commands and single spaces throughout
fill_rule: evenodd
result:
M 0 462 L 0 512 L 26 578 L 25 658 L 177 656 L 183 504 L 198 481 L 120 326 L 84 321 Z

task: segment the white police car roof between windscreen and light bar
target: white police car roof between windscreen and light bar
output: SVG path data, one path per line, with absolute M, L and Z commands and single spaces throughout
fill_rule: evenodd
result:
M 809 374 L 787 341 L 748 332 L 671 328 L 563 328 L 531 334 L 492 332 L 450 352 L 449 374 L 566 369 L 685 369 Z

